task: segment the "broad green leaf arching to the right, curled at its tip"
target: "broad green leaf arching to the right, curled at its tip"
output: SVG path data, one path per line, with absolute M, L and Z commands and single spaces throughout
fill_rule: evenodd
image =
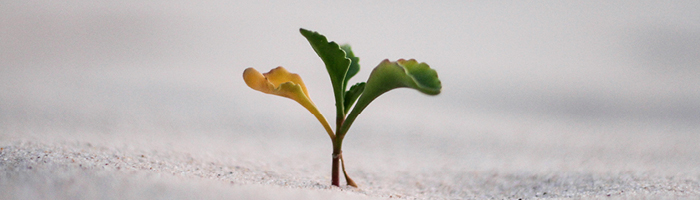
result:
M 342 139 L 359 115 L 374 99 L 395 88 L 413 88 L 428 95 L 440 94 L 442 84 L 437 72 L 416 60 L 384 60 L 372 70 L 362 95 L 352 109 L 336 137 Z

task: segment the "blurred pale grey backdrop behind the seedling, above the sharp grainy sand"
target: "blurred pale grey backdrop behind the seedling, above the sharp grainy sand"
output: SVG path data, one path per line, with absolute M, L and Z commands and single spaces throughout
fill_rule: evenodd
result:
M 397 89 L 358 117 L 344 148 L 346 159 L 356 152 L 356 169 L 399 155 L 413 159 L 386 165 L 546 170 L 584 161 L 517 163 L 510 154 L 561 160 L 578 154 L 538 146 L 651 148 L 630 153 L 642 155 L 700 142 L 700 1 L 0 5 L 0 140 L 181 138 L 193 149 L 241 141 L 326 159 L 330 143 L 311 114 L 241 77 L 247 67 L 284 66 L 333 119 L 327 72 L 299 34 L 306 28 L 352 45 L 362 69 L 351 83 L 385 58 L 426 62 L 442 80 L 438 96 Z M 697 169 L 697 158 L 688 162 Z

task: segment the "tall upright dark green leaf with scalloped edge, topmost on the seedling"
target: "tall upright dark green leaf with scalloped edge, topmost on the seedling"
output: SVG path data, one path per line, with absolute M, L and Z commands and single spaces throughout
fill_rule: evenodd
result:
M 306 29 L 299 29 L 299 32 L 306 37 L 311 47 L 316 51 L 323 63 L 326 64 L 326 70 L 331 77 L 333 85 L 333 93 L 335 94 L 336 107 L 336 122 L 340 125 L 342 118 L 345 117 L 344 98 L 345 95 L 345 75 L 350 67 L 351 60 L 345 57 L 345 51 L 335 42 L 328 42 L 326 36 L 318 32 L 312 32 Z

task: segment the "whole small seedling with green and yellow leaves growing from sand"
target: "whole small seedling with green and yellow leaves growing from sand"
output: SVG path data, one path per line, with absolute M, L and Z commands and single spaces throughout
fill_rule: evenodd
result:
M 442 89 L 442 84 L 438 79 L 437 72 L 431 69 L 428 64 L 419 63 L 413 59 L 399 59 L 396 62 L 386 59 L 372 70 L 367 82 L 356 83 L 348 89 L 348 81 L 360 71 L 360 59 L 355 57 L 350 46 L 328 42 L 325 36 L 317 32 L 305 29 L 299 31 L 309 41 L 316 54 L 321 57 L 326 65 L 328 75 L 330 75 L 336 107 L 335 132 L 311 101 L 309 92 L 299 75 L 290 73 L 283 67 L 274 68 L 264 74 L 253 68 L 247 68 L 243 72 L 243 79 L 250 88 L 293 99 L 309 110 L 321 122 L 333 143 L 331 184 L 340 185 L 338 170 L 342 166 L 346 183 L 357 187 L 357 184 L 345 171 L 345 161 L 343 161 L 341 151 L 343 138 L 357 115 L 374 99 L 389 90 L 406 87 L 428 95 L 437 95 Z

